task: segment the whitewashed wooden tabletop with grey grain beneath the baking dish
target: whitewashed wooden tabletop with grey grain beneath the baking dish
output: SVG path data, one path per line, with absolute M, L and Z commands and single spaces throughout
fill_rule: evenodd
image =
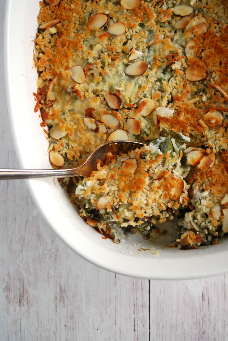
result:
M 4 11 L 0 0 L 0 168 L 16 168 Z M 228 275 L 148 281 L 100 269 L 54 234 L 24 180 L 0 182 L 0 229 L 0 341 L 228 340 Z

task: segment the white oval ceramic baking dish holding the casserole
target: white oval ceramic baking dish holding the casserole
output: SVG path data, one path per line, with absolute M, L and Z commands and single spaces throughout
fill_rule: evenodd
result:
M 22 168 L 49 168 L 47 139 L 34 113 L 36 69 L 33 64 L 38 0 L 8 0 L 5 22 L 5 71 L 9 115 L 14 143 Z M 5 113 L 7 115 L 7 113 Z M 213 247 L 180 251 L 157 248 L 134 236 L 119 245 L 102 239 L 78 216 L 58 181 L 27 182 L 37 207 L 56 234 L 88 261 L 121 274 L 150 279 L 190 279 L 228 271 L 228 240 Z M 139 244 L 140 242 L 140 244 Z M 42 248 L 42 245 L 39 246 Z

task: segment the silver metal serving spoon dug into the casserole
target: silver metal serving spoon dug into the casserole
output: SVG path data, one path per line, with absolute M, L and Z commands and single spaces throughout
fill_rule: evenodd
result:
M 143 143 L 133 141 L 107 142 L 95 149 L 79 167 L 68 169 L 0 169 L 0 180 L 47 177 L 63 178 L 76 175 L 87 177 L 97 169 L 99 161 L 105 161 L 107 153 L 111 152 L 113 155 L 119 155 L 120 152 L 128 153 L 130 150 L 143 146 Z

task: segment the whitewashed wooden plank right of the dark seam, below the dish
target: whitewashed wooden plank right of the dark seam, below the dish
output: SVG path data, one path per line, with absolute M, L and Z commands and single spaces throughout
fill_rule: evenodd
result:
M 152 281 L 150 340 L 228 340 L 227 279 Z

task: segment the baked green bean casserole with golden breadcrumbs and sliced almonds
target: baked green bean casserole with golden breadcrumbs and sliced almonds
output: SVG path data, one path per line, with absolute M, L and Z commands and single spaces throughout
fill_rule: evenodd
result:
M 52 166 L 81 165 L 104 142 L 144 143 L 60 179 L 104 238 L 153 240 L 173 220 L 169 246 L 194 249 L 228 232 L 227 23 L 222 0 L 40 2 L 34 110 Z

